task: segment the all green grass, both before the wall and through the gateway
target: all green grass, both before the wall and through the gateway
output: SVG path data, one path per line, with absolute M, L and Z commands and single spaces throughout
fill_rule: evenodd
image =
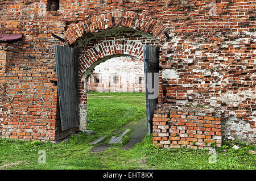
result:
M 93 153 L 90 141 L 143 119 L 146 107 L 143 93 L 88 92 L 88 129 L 96 134 L 71 136 L 59 144 L 39 141 L 0 140 L 0 169 L 256 169 L 255 155 L 248 150 L 256 146 L 226 142 L 210 163 L 209 151 L 193 149 L 162 149 L 152 145 L 147 135 L 131 150 L 114 145 L 106 151 Z M 236 144 L 240 149 L 233 149 Z M 46 163 L 38 163 L 39 150 L 46 153 Z

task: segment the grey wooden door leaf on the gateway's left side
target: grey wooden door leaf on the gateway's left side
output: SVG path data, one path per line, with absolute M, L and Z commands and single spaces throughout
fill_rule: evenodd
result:
M 75 48 L 54 46 L 61 129 L 79 125 L 77 51 Z

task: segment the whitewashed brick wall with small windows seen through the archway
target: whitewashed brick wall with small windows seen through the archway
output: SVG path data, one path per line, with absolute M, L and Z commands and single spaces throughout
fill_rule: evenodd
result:
M 88 78 L 86 90 L 145 92 L 144 63 L 134 57 L 110 58 L 94 68 L 93 73 Z

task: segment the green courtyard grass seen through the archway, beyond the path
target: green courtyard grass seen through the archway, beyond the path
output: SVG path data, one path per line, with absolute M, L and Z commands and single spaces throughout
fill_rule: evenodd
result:
M 87 129 L 110 133 L 129 121 L 143 119 L 145 105 L 144 93 L 88 92 Z

